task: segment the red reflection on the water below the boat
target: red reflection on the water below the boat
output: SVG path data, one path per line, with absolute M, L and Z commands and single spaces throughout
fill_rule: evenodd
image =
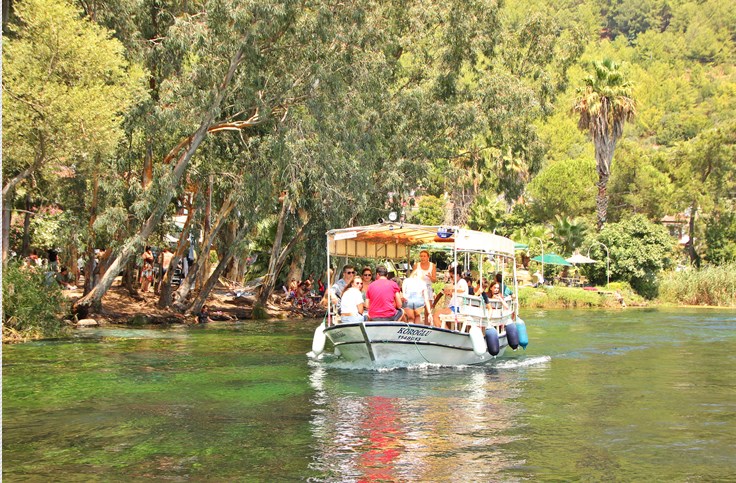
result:
M 366 419 L 368 448 L 358 459 L 364 477 L 360 482 L 395 481 L 395 461 L 403 452 L 403 436 L 395 399 L 375 396 L 367 399 Z

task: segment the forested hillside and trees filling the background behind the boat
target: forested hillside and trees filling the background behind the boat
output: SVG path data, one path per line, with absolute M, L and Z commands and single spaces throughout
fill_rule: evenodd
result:
M 264 301 L 324 270 L 328 228 L 392 209 L 560 250 L 681 215 L 693 263 L 736 259 L 729 2 L 4 7 L 3 261 L 58 248 L 91 270 L 98 249 L 81 306 L 121 272 L 134 292 L 143 246 L 172 237 L 175 261 L 217 256 L 160 305 L 195 310 L 220 276 L 263 275 Z M 630 111 L 602 183 L 579 106 L 614 84 Z

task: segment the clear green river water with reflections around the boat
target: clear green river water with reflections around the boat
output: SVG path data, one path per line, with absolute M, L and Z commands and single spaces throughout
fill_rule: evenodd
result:
M 3 348 L 4 481 L 734 481 L 736 312 L 528 311 L 485 367 L 308 362 L 317 321 Z

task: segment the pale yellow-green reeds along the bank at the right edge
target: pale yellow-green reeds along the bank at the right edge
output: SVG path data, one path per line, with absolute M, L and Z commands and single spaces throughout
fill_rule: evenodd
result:
M 736 307 L 736 263 L 673 271 L 661 279 L 660 302 Z

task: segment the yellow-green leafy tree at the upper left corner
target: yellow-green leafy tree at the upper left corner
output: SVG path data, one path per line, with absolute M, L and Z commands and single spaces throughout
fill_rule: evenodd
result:
M 74 173 L 109 156 L 123 136 L 122 114 L 142 94 L 142 71 L 126 62 L 122 45 L 72 5 L 23 0 L 14 10 L 18 24 L 3 45 L 6 207 L 32 175 Z M 4 236 L 3 260 L 7 247 Z

